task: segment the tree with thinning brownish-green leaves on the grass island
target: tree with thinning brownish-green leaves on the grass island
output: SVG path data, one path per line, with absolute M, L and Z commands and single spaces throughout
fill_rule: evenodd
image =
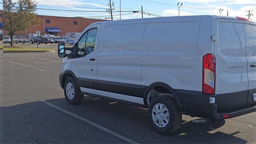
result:
M 16 32 L 40 24 L 40 19 L 36 16 L 36 6 L 36 2 L 32 0 L 3 0 L 4 30 L 10 34 L 11 46 Z

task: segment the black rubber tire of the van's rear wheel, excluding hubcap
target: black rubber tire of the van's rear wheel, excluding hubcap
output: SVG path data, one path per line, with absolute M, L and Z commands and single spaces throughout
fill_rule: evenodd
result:
M 164 104 L 169 112 L 169 122 L 168 124 L 160 128 L 158 127 L 152 118 L 152 110 L 155 106 L 155 104 Z M 154 127 L 154 130 L 158 132 L 159 134 L 171 134 L 174 133 L 178 128 L 180 128 L 180 125 L 182 124 L 182 114 L 180 110 L 177 108 L 175 100 L 171 98 L 170 96 L 157 96 L 154 98 L 148 107 L 148 118 L 150 119 L 150 123 Z

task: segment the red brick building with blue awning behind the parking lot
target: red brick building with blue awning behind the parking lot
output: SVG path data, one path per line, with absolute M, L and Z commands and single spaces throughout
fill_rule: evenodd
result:
M 2 10 L 0 10 L 0 14 L 3 14 Z M 2 22 L 3 18 L 0 18 L 0 22 Z M 83 17 L 70 18 L 43 15 L 38 15 L 38 18 L 42 21 L 39 25 L 30 26 L 26 31 L 18 31 L 16 35 L 28 35 L 30 33 L 36 33 L 36 30 L 39 30 L 41 32 L 41 35 L 44 35 L 45 33 L 64 36 L 67 32 L 82 32 L 84 28 L 86 28 L 90 24 L 103 21 Z M 4 30 L 4 35 L 6 35 L 6 30 Z

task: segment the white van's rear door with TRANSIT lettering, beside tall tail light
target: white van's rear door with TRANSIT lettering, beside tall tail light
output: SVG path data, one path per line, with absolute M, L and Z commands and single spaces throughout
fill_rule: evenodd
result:
M 217 19 L 215 32 L 218 111 L 244 107 L 248 96 L 244 21 Z

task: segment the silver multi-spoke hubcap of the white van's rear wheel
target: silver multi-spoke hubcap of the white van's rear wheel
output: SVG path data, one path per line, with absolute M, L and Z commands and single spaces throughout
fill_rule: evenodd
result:
M 167 126 L 170 120 L 170 115 L 168 109 L 164 104 L 157 103 L 154 105 L 152 110 L 152 119 L 156 126 L 158 126 L 159 128 L 164 128 Z

